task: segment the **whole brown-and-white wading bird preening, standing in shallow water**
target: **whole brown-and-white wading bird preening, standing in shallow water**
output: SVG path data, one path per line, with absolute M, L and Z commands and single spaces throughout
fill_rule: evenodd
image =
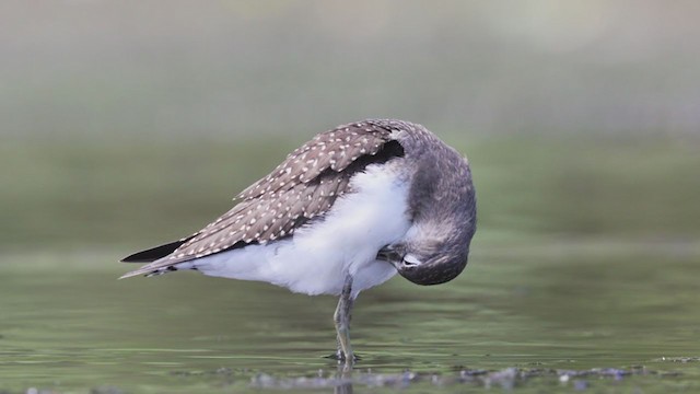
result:
M 343 363 L 357 359 L 350 317 L 361 291 L 396 274 L 423 286 L 454 279 L 476 232 L 467 158 L 398 119 L 320 132 L 234 200 L 194 234 L 125 257 L 148 264 L 121 278 L 194 269 L 338 296 L 332 358 Z

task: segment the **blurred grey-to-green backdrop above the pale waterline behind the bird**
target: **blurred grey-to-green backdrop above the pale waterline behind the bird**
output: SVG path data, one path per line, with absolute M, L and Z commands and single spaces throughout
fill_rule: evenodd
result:
M 0 247 L 196 230 L 369 117 L 469 155 L 487 233 L 695 240 L 695 1 L 3 1 Z M 479 243 L 477 239 L 477 245 Z

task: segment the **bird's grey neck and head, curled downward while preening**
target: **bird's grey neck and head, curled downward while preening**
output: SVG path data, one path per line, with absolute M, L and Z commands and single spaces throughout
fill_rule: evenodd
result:
M 401 144 L 411 163 L 413 225 L 402 240 L 380 251 L 378 258 L 415 283 L 443 283 L 464 270 L 476 232 L 469 163 L 432 134 L 410 134 Z

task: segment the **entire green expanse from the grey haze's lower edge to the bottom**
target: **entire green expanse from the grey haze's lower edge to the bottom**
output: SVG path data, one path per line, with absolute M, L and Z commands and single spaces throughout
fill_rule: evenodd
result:
M 325 358 L 332 298 L 116 280 L 135 267 L 119 258 L 199 229 L 299 143 L 0 146 L 0 393 L 700 392 L 696 139 L 463 147 L 469 266 L 363 292 L 349 375 Z

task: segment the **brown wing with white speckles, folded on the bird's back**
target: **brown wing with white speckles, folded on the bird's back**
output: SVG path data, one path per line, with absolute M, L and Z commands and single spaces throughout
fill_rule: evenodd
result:
M 135 276 L 252 243 L 293 234 L 324 215 L 349 192 L 352 175 L 371 163 L 402 155 L 392 130 L 357 123 L 322 132 L 294 150 L 268 176 L 238 196 L 229 212 L 197 232 L 170 255 L 125 275 Z

